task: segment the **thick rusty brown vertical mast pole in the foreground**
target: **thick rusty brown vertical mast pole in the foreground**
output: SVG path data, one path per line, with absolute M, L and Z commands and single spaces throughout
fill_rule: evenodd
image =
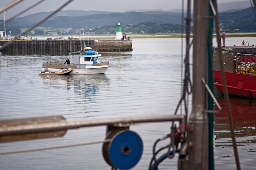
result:
M 207 0 L 194 0 L 193 17 L 193 107 L 189 118 L 189 163 L 193 170 L 208 170 L 208 117 L 205 113 L 208 55 L 208 7 Z

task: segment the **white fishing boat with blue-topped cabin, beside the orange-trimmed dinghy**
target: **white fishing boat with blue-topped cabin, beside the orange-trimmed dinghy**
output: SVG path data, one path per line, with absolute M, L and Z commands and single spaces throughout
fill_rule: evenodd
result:
M 72 68 L 73 71 L 70 74 L 104 74 L 110 67 L 109 61 L 99 61 L 101 54 L 90 49 L 90 47 L 86 47 L 82 54 L 74 55 L 73 63 L 67 65 L 62 62 L 47 62 L 43 63 L 42 70 L 48 68 L 49 70 L 59 71 Z

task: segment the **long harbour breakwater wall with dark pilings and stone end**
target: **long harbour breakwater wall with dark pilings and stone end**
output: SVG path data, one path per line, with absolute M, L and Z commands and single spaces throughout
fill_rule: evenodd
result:
M 0 46 L 11 40 L 1 40 Z M 50 40 L 15 40 L 2 49 L 6 54 L 49 54 L 66 55 L 81 50 L 83 44 L 98 52 L 132 51 L 132 40 L 115 39 L 50 39 Z

